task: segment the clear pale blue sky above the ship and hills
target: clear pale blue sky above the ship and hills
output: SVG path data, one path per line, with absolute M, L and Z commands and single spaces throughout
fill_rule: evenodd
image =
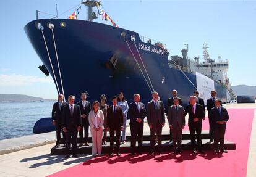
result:
M 2 1 L 0 6 L 0 94 L 27 94 L 56 99 L 53 79 L 45 76 L 42 64 L 28 41 L 24 26 L 36 19 L 36 10 L 69 17 L 80 0 Z M 209 44 L 211 59 L 229 61 L 231 85 L 256 86 L 256 1 L 153 1 L 103 0 L 103 9 L 117 25 L 167 45 L 171 55 L 181 55 L 189 44 L 188 56 L 200 56 Z M 72 9 L 72 7 L 74 7 Z M 69 10 L 70 9 L 70 10 Z M 63 12 L 66 12 L 63 14 Z M 82 5 L 78 19 L 85 20 Z M 39 14 L 40 18 L 51 15 Z M 96 19 L 95 22 L 106 23 Z

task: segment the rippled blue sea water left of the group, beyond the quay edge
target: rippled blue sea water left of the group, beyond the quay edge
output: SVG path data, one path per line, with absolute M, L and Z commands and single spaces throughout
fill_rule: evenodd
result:
M 33 134 L 40 118 L 51 117 L 53 101 L 0 103 L 0 140 Z

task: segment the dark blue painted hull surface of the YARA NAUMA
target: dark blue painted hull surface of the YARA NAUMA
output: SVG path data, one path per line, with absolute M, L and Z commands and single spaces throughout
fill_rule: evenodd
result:
M 122 32 L 126 33 L 127 42 L 134 52 L 135 58 L 140 61 L 134 43 L 130 41 L 130 36 L 135 35 L 137 47 L 139 47 L 139 43 L 147 44 L 140 40 L 138 33 L 83 20 L 40 19 L 28 23 L 25 26 L 28 39 L 52 77 L 53 70 L 49 63 L 41 31 L 35 26 L 36 22 L 40 22 L 45 27 L 43 33 L 57 78 L 55 84 L 58 84 L 62 93 L 53 35 L 47 27 L 47 23 L 51 22 L 55 25 L 53 31 L 66 98 L 70 94 L 74 94 L 79 99 L 80 93 L 87 91 L 89 101 L 98 100 L 101 94 L 106 94 L 109 102 L 111 97 L 116 96 L 119 91 L 123 91 L 129 102 L 132 101 L 134 93 L 141 95 L 142 102 L 150 101 L 151 91 L 136 65 L 129 47 L 121 36 Z M 66 23 L 65 28 L 60 27 L 61 22 Z M 147 45 L 161 49 L 150 44 Z M 177 89 L 184 105 L 188 104 L 189 96 L 195 88 L 179 70 L 169 68 L 168 56 L 140 49 L 139 52 L 153 87 L 160 94 L 164 104 L 171 95 L 172 89 Z M 109 62 L 114 54 L 117 56 L 115 67 Z M 139 62 L 139 64 L 142 67 L 142 63 Z M 196 76 L 192 73 L 186 73 L 186 75 L 196 85 Z M 165 79 L 162 83 L 163 77 Z M 218 93 L 223 93 L 219 95 L 221 99 L 226 99 L 226 89 L 221 86 L 215 86 L 215 88 L 217 91 L 220 89 Z

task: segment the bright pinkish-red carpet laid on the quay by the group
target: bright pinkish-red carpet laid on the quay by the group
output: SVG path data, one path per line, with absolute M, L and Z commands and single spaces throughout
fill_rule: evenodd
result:
M 105 155 L 50 176 L 246 176 L 254 109 L 229 109 L 228 113 L 230 119 L 225 139 L 236 142 L 236 150 L 229 150 L 228 154 L 216 155 L 206 151 L 203 155 L 194 155 L 184 151 L 181 155 L 166 152 L 133 158 L 129 154 L 113 158 Z M 207 124 L 208 120 L 205 120 L 203 127 Z

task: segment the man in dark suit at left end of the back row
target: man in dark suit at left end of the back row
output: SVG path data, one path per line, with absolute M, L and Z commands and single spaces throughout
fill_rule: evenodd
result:
M 51 111 L 51 118 L 53 120 L 53 125 L 56 127 L 56 145 L 55 147 L 59 147 L 61 142 L 61 112 L 64 107 L 67 105 L 66 102 L 63 101 L 63 94 L 58 95 L 58 102 L 53 104 L 53 110 Z M 64 146 L 66 146 L 66 134 L 62 131 L 62 136 L 64 139 Z

